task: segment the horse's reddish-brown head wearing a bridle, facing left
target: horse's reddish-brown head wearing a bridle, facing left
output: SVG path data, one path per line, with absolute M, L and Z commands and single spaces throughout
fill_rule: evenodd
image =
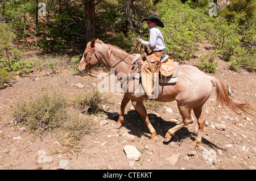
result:
M 82 59 L 79 64 L 79 73 L 86 73 L 88 70 L 92 69 L 95 65 L 100 61 L 97 57 L 96 49 L 95 49 L 95 39 L 92 39 L 87 44 L 86 49 L 84 50 L 84 54 L 82 55 Z

